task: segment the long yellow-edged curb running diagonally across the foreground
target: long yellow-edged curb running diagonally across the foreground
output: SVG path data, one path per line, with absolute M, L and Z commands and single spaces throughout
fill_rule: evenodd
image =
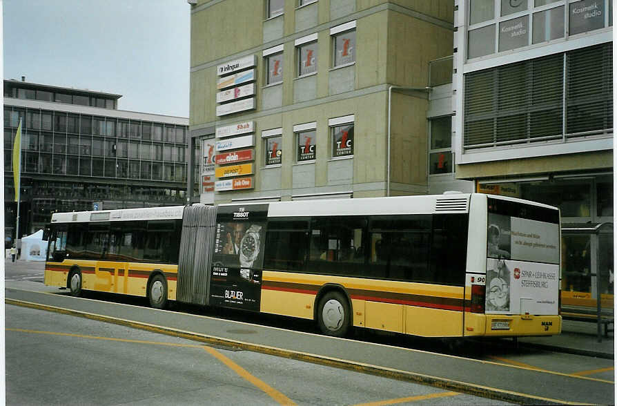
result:
M 429 385 L 432 387 L 438 387 L 440 389 L 446 389 L 454 392 L 461 392 L 464 394 L 470 394 L 473 396 L 480 396 L 483 398 L 490 398 L 495 400 L 502 400 L 510 403 L 531 404 L 531 405 L 578 405 L 578 403 L 567 402 L 565 400 L 542 398 L 540 396 L 533 396 L 529 394 L 521 394 L 518 392 L 511 392 L 505 389 L 496 389 L 493 387 L 484 387 L 482 385 L 476 385 L 472 383 L 460 382 L 457 380 L 449 380 L 447 378 L 440 378 L 436 376 L 429 376 L 424 374 L 418 374 L 411 371 L 401 371 L 400 369 L 391 369 L 387 367 L 379 367 L 376 365 L 369 365 L 364 363 L 357 363 L 349 360 L 342 360 L 337 358 L 331 358 L 326 356 L 319 356 L 316 354 L 302 353 L 299 351 L 291 351 L 287 349 L 281 349 L 277 347 L 268 347 L 264 345 L 256 345 L 250 342 L 242 342 L 237 340 L 230 340 L 228 338 L 220 338 L 216 336 L 208 336 L 206 334 L 198 334 L 192 331 L 183 331 L 179 329 L 173 329 L 171 327 L 162 327 L 157 325 L 150 325 L 148 323 L 135 322 L 132 320 L 125 320 L 120 318 L 113 318 L 110 316 L 103 316 L 95 313 L 86 313 L 84 311 L 77 311 L 72 309 L 65 309 L 62 307 L 55 307 L 49 305 L 40 305 L 38 303 L 26 302 L 23 300 L 16 300 L 5 298 L 7 305 L 15 305 L 21 307 L 29 307 L 31 309 L 39 309 L 45 311 L 54 311 L 56 313 L 62 313 L 70 316 L 78 316 L 82 318 L 88 318 L 90 320 L 97 320 L 101 322 L 109 322 L 116 325 L 122 325 L 126 327 L 133 327 L 135 329 L 141 329 L 151 331 L 159 334 L 166 334 L 168 336 L 175 336 L 179 338 L 186 338 L 187 340 L 193 340 L 198 342 L 204 342 L 209 345 L 217 345 L 227 349 L 243 349 L 246 351 L 253 351 L 262 354 L 268 354 L 273 356 L 280 356 L 293 360 L 300 360 L 317 365 L 324 365 L 327 367 L 335 367 L 340 369 L 346 369 L 348 371 L 361 372 L 363 374 L 371 374 L 374 376 L 382 376 L 385 378 L 404 380 L 411 383 L 419 383 L 422 385 Z

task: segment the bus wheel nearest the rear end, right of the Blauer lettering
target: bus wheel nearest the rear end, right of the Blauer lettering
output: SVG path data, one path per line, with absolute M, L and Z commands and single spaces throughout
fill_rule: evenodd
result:
M 323 334 L 344 337 L 349 332 L 351 309 L 345 296 L 338 291 L 326 293 L 317 307 L 317 323 Z

